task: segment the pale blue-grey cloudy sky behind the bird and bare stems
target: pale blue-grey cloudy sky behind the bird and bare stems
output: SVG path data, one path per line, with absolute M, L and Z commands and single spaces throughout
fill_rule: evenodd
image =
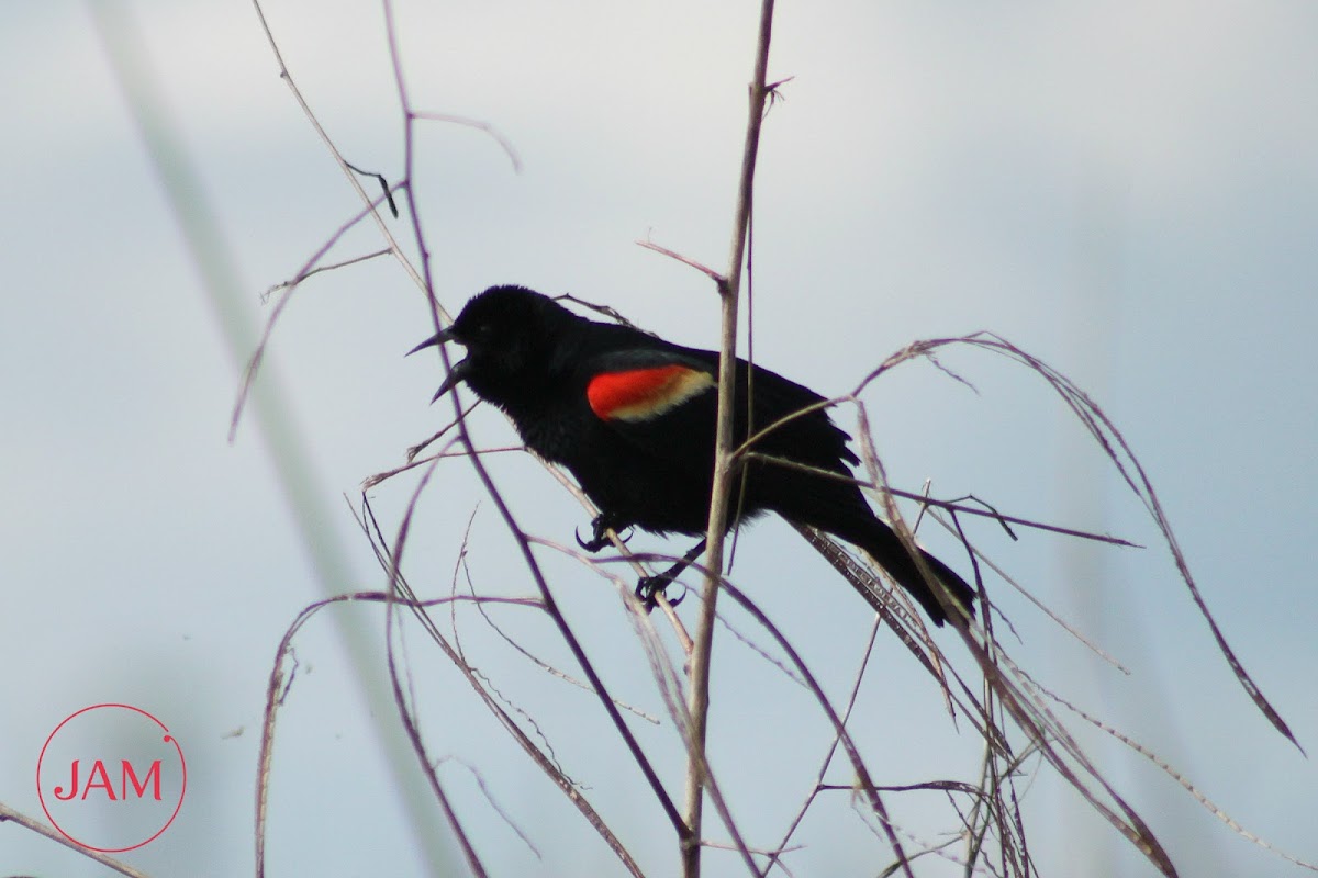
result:
M 523 283 L 716 346 L 708 279 L 634 244 L 650 237 L 717 269 L 726 261 L 758 11 L 709 5 L 397 5 L 415 107 L 493 124 L 523 166 L 514 172 L 480 132 L 420 129 L 416 197 L 447 308 L 494 283 Z M 340 150 L 397 180 L 403 125 L 380 5 L 265 9 Z M 134 28 L 115 26 L 129 14 Z M 436 362 L 402 355 L 431 333 L 424 297 L 398 263 L 376 259 L 298 291 L 258 403 L 228 441 L 241 361 L 270 312 L 264 291 L 360 203 L 279 80 L 250 4 L 115 4 L 104 18 L 98 30 L 84 4 L 9 4 L 0 28 L 0 802 L 40 815 L 33 775 L 50 731 L 88 704 L 136 704 L 178 733 L 190 786 L 175 825 L 125 858 L 150 874 L 245 874 L 279 637 L 327 588 L 384 586 L 344 495 L 360 502 L 362 479 L 402 463 L 448 409 L 427 404 Z M 1310 753 L 1315 33 L 1318 8 L 1268 0 L 782 4 L 770 76 L 795 79 L 763 134 L 753 308 L 757 361 L 829 395 L 912 340 L 981 329 L 1089 390 L 1140 457 L 1239 658 Z M 211 253 L 233 278 L 221 305 L 185 244 L 104 34 L 120 34 L 112 45 L 148 71 L 162 125 L 195 168 L 195 183 L 174 178 L 175 192 L 223 238 Z M 414 251 L 406 217 L 391 229 Z M 362 226 L 331 259 L 380 246 Z M 237 353 L 225 326 L 243 330 Z M 1012 542 L 971 525 L 995 562 L 1132 673 L 1093 658 L 991 578 L 1021 638 L 1010 645 L 1017 659 L 1144 742 L 1246 829 L 1318 860 L 1318 769 L 1234 681 L 1143 507 L 1036 376 L 969 350 L 942 362 L 978 392 L 921 363 L 866 391 L 896 487 L 932 479 L 937 496 L 973 492 L 1004 512 L 1148 546 L 1032 532 Z M 854 428 L 854 412 L 837 417 Z M 472 429 L 486 446 L 514 438 L 494 412 L 478 412 Z M 525 455 L 490 461 L 523 527 L 571 544 L 587 524 L 576 502 Z M 302 488 L 286 487 L 290 471 Z M 415 483 L 372 488 L 387 532 Z M 468 521 L 477 587 L 530 594 L 461 461 L 440 467 L 419 503 L 407 550 L 418 591 L 448 592 Z M 944 534 L 921 536 L 965 566 Z M 685 542 L 642 534 L 633 548 Z M 660 717 L 635 728 L 680 796 L 677 737 L 616 592 L 575 562 L 542 557 L 616 695 Z M 845 695 L 870 625 L 845 583 L 778 521 L 742 536 L 731 577 L 829 694 Z M 693 625 L 695 602 L 681 612 Z M 490 615 L 577 673 L 543 617 Z M 729 621 L 766 644 L 745 616 Z M 675 874 L 668 824 L 592 696 L 529 663 L 480 616 L 463 611 L 457 625 L 472 662 L 535 717 L 647 871 Z M 272 874 L 420 875 L 449 856 L 419 773 L 399 783 L 390 769 L 387 754 L 402 752 L 397 717 L 364 695 L 382 691 L 382 628 L 378 607 L 355 607 L 298 637 L 270 787 Z M 750 842 L 770 846 L 828 728 L 774 665 L 729 632 L 718 637 L 714 770 Z M 963 653 L 952 636 L 940 644 Z M 451 757 L 440 777 L 492 874 L 619 874 L 419 632 L 407 645 L 427 742 Z M 370 669 L 365 684 L 349 654 Z M 853 731 L 879 782 L 974 781 L 974 735 L 956 732 L 887 633 L 873 662 Z M 1101 735 L 1083 738 L 1182 874 L 1302 874 L 1148 762 Z M 846 785 L 850 773 L 838 766 L 830 779 Z M 828 795 L 803 827 L 808 846 L 788 860 L 793 874 L 882 870 L 886 846 L 846 792 Z M 932 795 L 890 806 L 916 839 L 954 828 Z M 1044 874 L 1152 874 L 1049 771 L 1024 808 Z M 733 854 L 706 857 L 709 874 L 745 874 Z M 0 874 L 11 873 L 105 874 L 5 824 Z M 921 861 L 917 874 L 957 869 Z

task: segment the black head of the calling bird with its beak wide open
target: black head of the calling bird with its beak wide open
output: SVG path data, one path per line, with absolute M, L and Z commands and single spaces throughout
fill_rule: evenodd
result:
M 559 329 L 580 320 L 571 311 L 526 287 L 490 287 L 474 296 L 448 328 L 409 353 L 447 341 L 467 348 L 440 384 L 439 399 L 459 382 L 497 405 L 534 392 L 550 367 Z

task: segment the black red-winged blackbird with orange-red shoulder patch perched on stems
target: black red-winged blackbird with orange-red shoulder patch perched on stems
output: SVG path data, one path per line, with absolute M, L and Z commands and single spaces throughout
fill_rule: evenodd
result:
M 565 466 L 600 507 L 594 540 L 635 525 L 655 533 L 704 534 L 713 482 L 718 354 L 681 348 L 630 326 L 577 316 L 523 287 L 490 287 L 457 320 L 414 350 L 456 341 L 456 363 L 435 399 L 459 382 L 513 419 L 540 457 Z M 734 441 L 747 436 L 746 361 L 737 361 Z M 754 367 L 751 426 L 762 430 L 824 401 L 776 373 Z M 850 437 L 822 409 L 789 420 L 755 442 L 771 458 L 851 478 Z M 875 517 L 853 482 L 751 459 L 734 496 L 742 521 L 776 512 L 865 549 L 909 591 L 934 623 L 948 617 L 907 548 Z M 697 545 L 688 561 L 702 549 Z M 921 550 L 953 600 L 971 612 L 974 590 Z M 664 582 L 676 570 L 651 578 Z M 643 583 L 654 587 L 656 582 Z

